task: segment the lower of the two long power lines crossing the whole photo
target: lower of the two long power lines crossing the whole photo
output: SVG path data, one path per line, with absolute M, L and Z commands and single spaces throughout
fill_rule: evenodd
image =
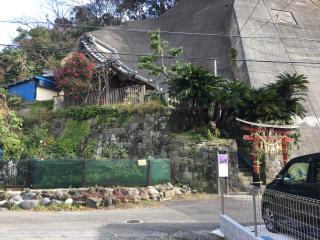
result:
M 3 44 L 0 43 L 0 46 L 4 47 L 17 47 L 17 48 L 23 48 L 23 49 L 34 49 L 34 50 L 48 50 L 48 51 L 76 51 L 74 48 L 43 48 L 43 47 L 27 47 L 27 46 L 20 46 L 18 44 Z M 79 51 L 79 50 L 78 50 Z M 80 52 L 86 52 L 84 50 L 80 50 Z M 111 56 L 135 56 L 135 57 L 144 57 L 144 56 L 152 56 L 150 54 L 144 54 L 144 53 L 106 53 L 103 51 L 91 51 L 92 53 L 100 53 L 100 54 L 106 54 Z M 164 56 L 166 59 L 184 59 L 184 60 L 207 60 L 207 61 L 230 61 L 231 58 L 221 58 L 221 57 L 186 57 L 186 56 Z M 309 64 L 309 65 L 320 65 L 319 62 L 315 61 L 281 61 L 281 60 L 260 60 L 260 59 L 232 59 L 232 61 L 236 62 L 258 62 L 258 63 L 282 63 L 282 64 Z M 319 67 L 320 68 L 320 67 Z

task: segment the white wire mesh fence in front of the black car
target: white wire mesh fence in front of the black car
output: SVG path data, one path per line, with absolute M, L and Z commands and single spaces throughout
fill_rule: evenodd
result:
M 319 200 L 254 186 L 236 195 L 221 191 L 222 214 L 258 239 L 320 239 Z

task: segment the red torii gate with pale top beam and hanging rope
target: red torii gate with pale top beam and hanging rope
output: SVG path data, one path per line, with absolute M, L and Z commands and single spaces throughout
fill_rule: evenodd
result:
M 254 123 L 237 118 L 242 124 L 242 129 L 250 132 L 250 135 L 244 135 L 245 141 L 252 142 L 252 168 L 253 184 L 260 185 L 260 165 L 257 159 L 258 147 L 261 142 L 267 144 L 281 144 L 283 164 L 288 163 L 288 145 L 294 142 L 293 138 L 288 137 L 296 132 L 298 126 L 288 125 L 269 125 L 263 123 Z

